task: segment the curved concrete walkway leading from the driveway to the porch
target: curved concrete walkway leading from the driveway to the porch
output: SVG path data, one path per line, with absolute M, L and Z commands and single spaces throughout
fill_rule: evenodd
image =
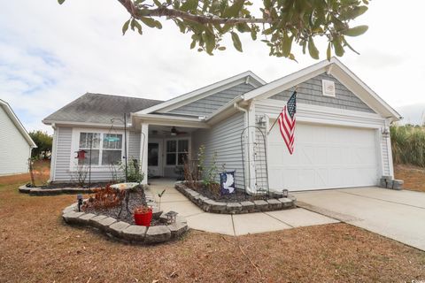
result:
M 207 213 L 178 192 L 174 188 L 173 180 L 153 179 L 150 181 L 151 191 L 157 203 L 159 202 L 158 194 L 166 189 L 161 200 L 161 210 L 174 210 L 188 220 L 190 228 L 205 232 L 238 236 L 339 222 L 301 208 L 236 215 Z

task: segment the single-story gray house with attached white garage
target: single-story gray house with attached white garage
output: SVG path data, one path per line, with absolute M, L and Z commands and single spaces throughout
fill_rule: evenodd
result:
M 298 86 L 295 152 L 289 155 L 273 125 Z M 123 124 L 112 118 L 128 113 L 128 157 L 143 172 L 174 177 L 189 151 L 205 145 L 205 163 L 236 171 L 236 187 L 307 190 L 375 186 L 393 176 L 389 126 L 397 111 L 368 88 L 336 58 L 266 83 L 251 72 L 177 96 L 166 102 L 123 96 L 86 94 L 51 114 L 53 126 L 51 180 L 69 181 L 78 167 L 76 151 L 92 151 L 92 180 L 110 180 L 109 164 L 123 156 Z M 259 126 L 266 135 L 264 149 Z M 113 142 L 111 142 L 113 141 Z M 242 149 L 244 147 L 244 149 Z M 145 179 L 144 182 L 147 180 Z

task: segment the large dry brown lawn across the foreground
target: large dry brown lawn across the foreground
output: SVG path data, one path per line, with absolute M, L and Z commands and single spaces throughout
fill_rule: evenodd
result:
M 60 214 L 75 195 L 19 194 L 18 184 L 25 182 L 26 175 L 0 179 L 0 282 L 425 279 L 425 252 L 346 224 L 237 238 L 190 231 L 158 246 L 126 245 L 66 226 Z

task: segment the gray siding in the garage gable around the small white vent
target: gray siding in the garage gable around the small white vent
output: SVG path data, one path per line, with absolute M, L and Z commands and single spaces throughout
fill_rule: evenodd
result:
M 321 89 L 321 80 L 333 80 L 335 82 L 336 97 L 323 96 Z M 281 93 L 271 96 L 271 99 L 287 101 L 295 88 L 290 88 Z M 344 85 L 336 80 L 330 74 L 321 73 L 320 75 L 298 85 L 297 102 L 305 104 L 314 104 L 351 111 L 362 111 L 375 113 L 366 103 L 362 102 L 352 91 L 345 88 Z

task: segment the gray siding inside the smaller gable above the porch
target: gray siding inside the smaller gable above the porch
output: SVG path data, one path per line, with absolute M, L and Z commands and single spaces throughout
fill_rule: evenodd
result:
M 168 113 L 208 117 L 214 111 L 218 110 L 221 106 L 224 106 L 236 96 L 241 96 L 244 93 L 251 91 L 252 89 L 254 89 L 254 87 L 250 84 L 241 83 L 235 87 L 222 90 L 211 96 L 201 98 L 196 102 L 176 108 L 173 111 L 169 111 Z

